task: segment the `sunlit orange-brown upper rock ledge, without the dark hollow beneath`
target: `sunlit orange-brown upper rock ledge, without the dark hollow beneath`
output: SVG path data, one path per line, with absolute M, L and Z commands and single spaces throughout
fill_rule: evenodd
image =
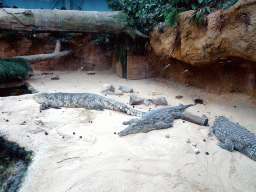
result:
M 158 27 L 154 29 L 151 46 L 158 56 L 170 56 L 192 65 L 216 62 L 223 57 L 256 62 L 255 0 L 240 0 L 228 10 L 216 10 L 200 27 L 189 22 L 192 13 L 180 14 L 179 27 L 166 27 L 164 33 L 159 33 Z

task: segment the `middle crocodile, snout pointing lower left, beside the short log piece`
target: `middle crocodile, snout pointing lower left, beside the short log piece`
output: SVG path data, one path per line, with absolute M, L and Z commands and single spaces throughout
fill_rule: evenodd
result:
M 174 119 L 181 118 L 183 111 L 195 104 L 183 105 L 179 104 L 175 107 L 163 107 L 152 110 L 143 115 L 140 119 L 131 119 L 124 121 L 123 125 L 129 125 L 123 131 L 119 132 L 119 136 L 125 136 L 134 133 L 147 133 L 152 130 L 167 129 L 173 126 Z

